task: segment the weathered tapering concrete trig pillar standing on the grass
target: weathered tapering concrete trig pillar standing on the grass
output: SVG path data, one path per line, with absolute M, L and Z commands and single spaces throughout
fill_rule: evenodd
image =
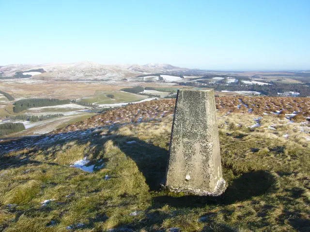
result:
M 171 191 L 200 196 L 225 191 L 212 89 L 178 90 L 169 150 L 166 187 Z

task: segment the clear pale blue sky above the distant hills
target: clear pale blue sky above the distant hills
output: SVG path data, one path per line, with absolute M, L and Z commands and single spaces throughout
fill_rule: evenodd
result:
M 0 65 L 310 69 L 310 0 L 0 0 Z

